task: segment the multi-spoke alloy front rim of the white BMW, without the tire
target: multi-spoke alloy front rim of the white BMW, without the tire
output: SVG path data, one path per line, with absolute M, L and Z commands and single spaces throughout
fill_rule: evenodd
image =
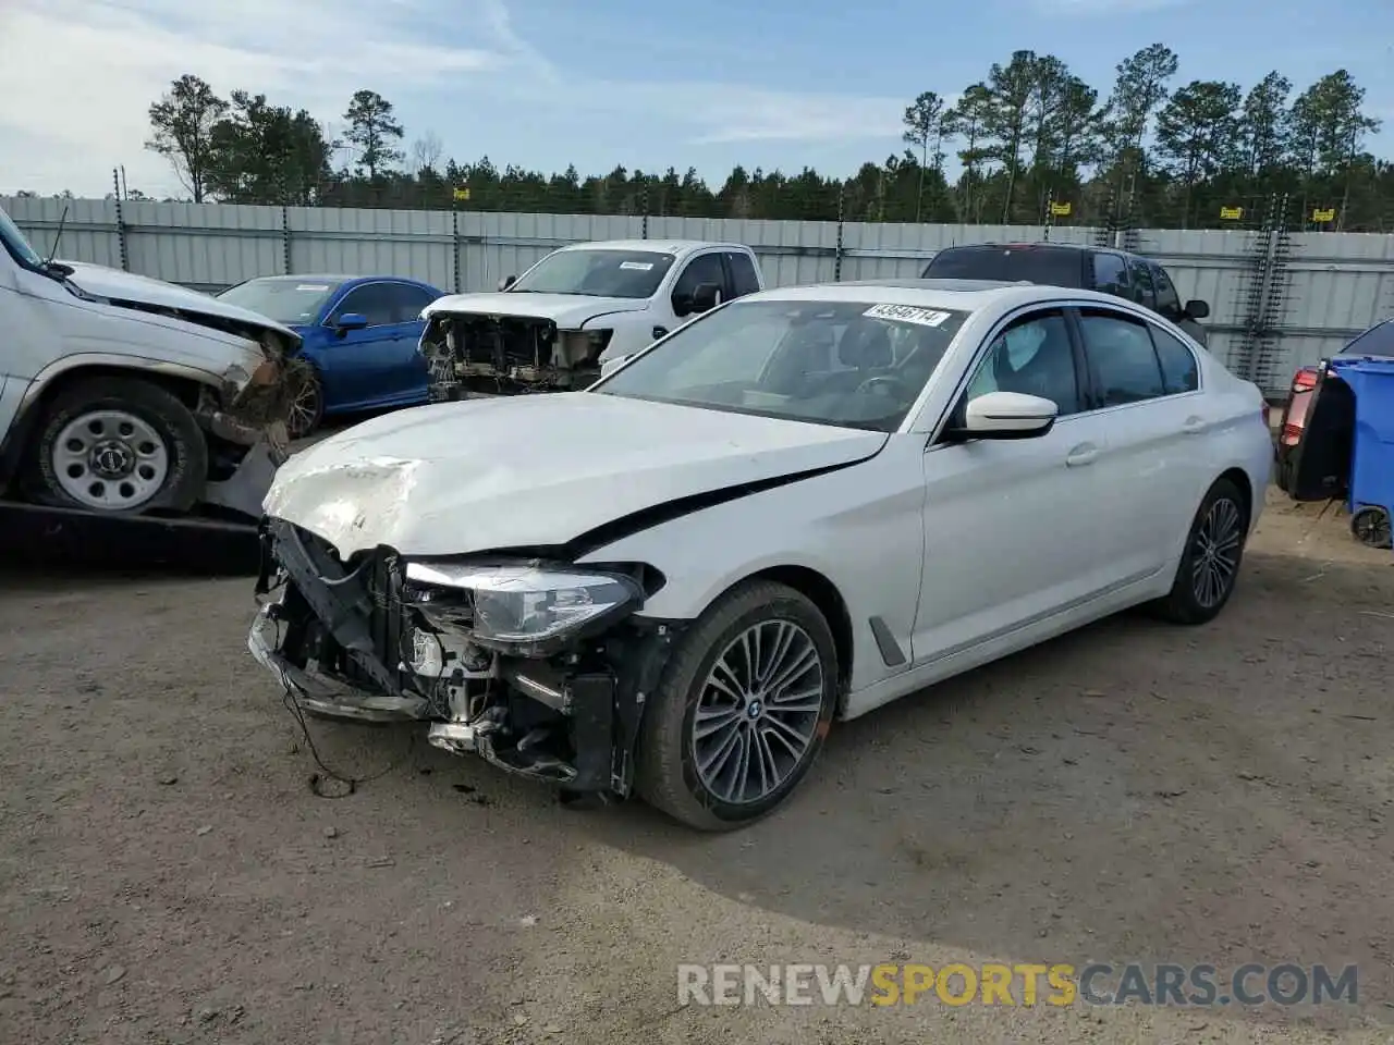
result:
M 813 748 L 825 673 L 813 637 L 790 620 L 736 635 L 712 663 L 693 715 L 697 777 L 718 800 L 774 794 Z

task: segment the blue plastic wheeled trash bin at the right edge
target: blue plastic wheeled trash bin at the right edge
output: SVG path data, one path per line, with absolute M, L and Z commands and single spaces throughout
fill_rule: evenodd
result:
M 1355 394 L 1351 532 L 1372 548 L 1390 548 L 1394 518 L 1394 359 L 1335 359 L 1331 369 Z

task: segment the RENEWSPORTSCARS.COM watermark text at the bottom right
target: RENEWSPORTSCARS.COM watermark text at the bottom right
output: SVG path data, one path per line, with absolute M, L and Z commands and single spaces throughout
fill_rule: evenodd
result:
M 1355 966 L 683 964 L 679 1005 L 1260 1006 L 1358 999 Z

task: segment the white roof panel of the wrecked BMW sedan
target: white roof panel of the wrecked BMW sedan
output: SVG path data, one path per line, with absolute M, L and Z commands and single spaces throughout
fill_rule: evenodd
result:
M 778 287 L 747 294 L 736 301 L 866 301 L 887 305 L 923 305 L 976 312 L 981 308 L 1002 309 L 1050 301 L 1097 301 L 1105 305 L 1131 302 L 1112 294 L 1040 283 L 1001 280 L 857 280 L 853 283 L 814 283 Z M 1139 307 L 1140 308 L 1140 307 Z

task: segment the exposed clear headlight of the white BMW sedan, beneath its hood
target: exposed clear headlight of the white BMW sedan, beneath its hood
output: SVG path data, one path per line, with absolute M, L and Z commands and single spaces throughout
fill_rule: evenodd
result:
M 644 599 L 638 582 L 623 574 L 533 563 L 407 563 L 407 584 L 424 589 L 417 605 L 428 617 L 428 605 L 441 607 L 450 602 L 446 591 L 460 592 L 468 602 L 473 640 L 521 655 L 565 645 Z M 456 621 L 466 616 L 436 613 Z

